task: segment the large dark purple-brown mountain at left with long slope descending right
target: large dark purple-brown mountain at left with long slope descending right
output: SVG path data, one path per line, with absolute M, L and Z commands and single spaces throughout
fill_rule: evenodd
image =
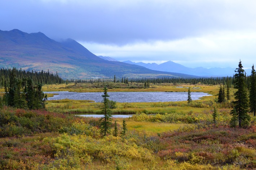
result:
M 191 77 L 180 73 L 150 70 L 119 61 L 107 61 L 94 55 L 72 39 L 54 41 L 43 33 L 18 29 L 0 30 L 0 67 L 25 70 L 48 70 L 62 78 L 146 78 Z

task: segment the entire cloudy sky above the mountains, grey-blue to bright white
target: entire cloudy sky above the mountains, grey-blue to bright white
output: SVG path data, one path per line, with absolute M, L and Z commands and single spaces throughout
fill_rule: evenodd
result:
M 255 0 L 0 0 L 0 30 L 72 38 L 118 61 L 256 64 Z

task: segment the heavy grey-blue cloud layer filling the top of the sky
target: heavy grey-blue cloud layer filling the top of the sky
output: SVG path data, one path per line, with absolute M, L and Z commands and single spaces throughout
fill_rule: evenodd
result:
M 1 3 L 4 30 L 50 38 L 125 45 L 169 41 L 209 32 L 256 28 L 255 1 L 241 0 L 8 0 Z

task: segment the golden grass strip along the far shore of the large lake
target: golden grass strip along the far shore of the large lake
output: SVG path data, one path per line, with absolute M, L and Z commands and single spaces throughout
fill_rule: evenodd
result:
M 150 88 L 144 88 L 144 83 L 129 83 L 129 86 L 124 83 L 69 83 L 45 85 L 42 87 L 43 91 L 70 91 L 70 92 L 103 92 L 104 86 L 107 86 L 108 92 L 187 92 L 187 88 L 191 87 L 191 92 L 206 92 L 215 95 L 219 91 L 219 86 L 206 85 L 190 85 L 179 84 L 173 86 L 171 83 L 150 84 Z M 181 87 L 182 88 L 177 88 Z M 134 87 L 134 88 L 132 88 Z M 197 88 L 193 88 L 197 87 Z

